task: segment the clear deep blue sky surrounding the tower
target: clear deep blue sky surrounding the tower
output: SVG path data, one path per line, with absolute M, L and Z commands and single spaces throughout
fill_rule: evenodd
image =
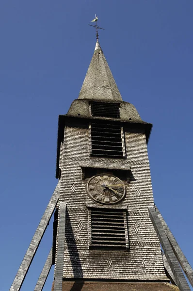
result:
M 0 1 L 0 291 L 9 290 L 57 184 L 58 115 L 99 41 L 121 95 L 154 127 L 155 202 L 193 266 L 193 1 Z M 33 290 L 52 222 L 22 291 Z M 50 291 L 53 269 L 44 291 Z

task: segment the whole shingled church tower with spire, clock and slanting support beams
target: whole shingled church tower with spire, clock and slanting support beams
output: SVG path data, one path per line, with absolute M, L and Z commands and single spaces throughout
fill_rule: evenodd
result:
M 191 284 L 193 270 L 154 204 L 151 128 L 123 101 L 97 40 L 79 97 L 59 116 L 59 182 L 10 291 L 20 290 L 52 213 L 34 291 L 53 264 L 52 291 L 190 291 L 182 270 Z

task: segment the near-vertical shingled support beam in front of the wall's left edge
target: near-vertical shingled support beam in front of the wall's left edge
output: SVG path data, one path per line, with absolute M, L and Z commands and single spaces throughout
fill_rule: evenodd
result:
M 54 291 L 62 291 L 64 266 L 64 240 L 65 240 L 65 212 L 66 203 L 60 202 L 58 217 L 58 247 L 55 267 Z

